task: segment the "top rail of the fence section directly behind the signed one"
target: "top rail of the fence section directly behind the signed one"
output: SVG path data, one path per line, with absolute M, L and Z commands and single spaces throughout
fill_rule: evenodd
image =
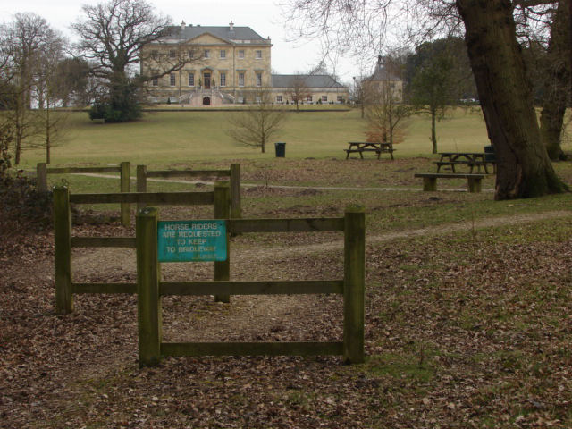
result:
M 130 192 L 109 194 L 71 194 L 74 204 L 148 203 L 156 205 L 210 205 L 214 192 Z

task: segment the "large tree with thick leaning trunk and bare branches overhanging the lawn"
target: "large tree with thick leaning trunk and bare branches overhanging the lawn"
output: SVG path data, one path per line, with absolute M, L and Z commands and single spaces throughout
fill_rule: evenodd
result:
M 531 89 L 517 43 L 513 16 L 516 3 L 509 0 L 289 2 L 290 20 L 301 24 L 302 34 L 321 34 L 327 46 L 342 51 L 351 49 L 362 56 L 368 50 L 383 46 L 386 24 L 389 19 L 396 19 L 398 9 L 400 20 L 404 18 L 404 11 L 411 11 L 406 16 L 411 24 L 413 20 L 428 22 L 415 15 L 424 12 L 425 18 L 431 15 L 429 18 L 454 29 L 461 29 L 460 16 L 489 138 L 497 153 L 496 199 L 535 197 L 568 189 L 554 172 L 540 139 Z M 409 7 L 414 4 L 424 6 L 425 10 Z

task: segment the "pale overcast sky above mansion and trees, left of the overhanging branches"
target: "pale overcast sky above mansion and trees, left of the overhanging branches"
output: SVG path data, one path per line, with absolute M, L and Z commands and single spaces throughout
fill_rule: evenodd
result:
M 70 24 L 81 14 L 81 4 L 97 4 L 81 0 L 0 0 L 0 16 L 12 21 L 14 13 L 33 12 L 45 18 L 68 38 L 73 38 Z M 224 26 L 233 21 L 236 26 L 250 27 L 263 38 L 272 39 L 272 68 L 282 74 L 306 72 L 321 59 L 318 41 L 291 42 L 284 28 L 284 17 L 272 0 L 156 0 L 150 1 L 156 13 L 169 15 L 175 24 Z M 335 61 L 335 72 L 345 83 L 359 73 L 349 59 Z M 328 64 L 332 69 L 332 63 Z

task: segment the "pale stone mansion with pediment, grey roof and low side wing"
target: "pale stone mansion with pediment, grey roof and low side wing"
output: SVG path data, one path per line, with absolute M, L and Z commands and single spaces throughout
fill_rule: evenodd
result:
M 154 76 L 184 61 L 181 70 L 147 84 L 150 101 L 184 105 L 254 103 L 270 94 L 273 103 L 346 103 L 349 89 L 328 75 L 273 75 L 270 38 L 249 27 L 186 25 L 141 50 L 141 74 Z

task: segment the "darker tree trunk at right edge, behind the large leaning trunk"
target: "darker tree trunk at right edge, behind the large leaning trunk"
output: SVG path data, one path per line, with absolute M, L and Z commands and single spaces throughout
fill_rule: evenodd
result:
M 560 136 L 572 76 L 569 20 L 567 4 L 560 0 L 551 24 L 551 41 L 546 55 L 543 112 L 540 117 L 541 139 L 552 160 L 565 158 L 560 146 Z

